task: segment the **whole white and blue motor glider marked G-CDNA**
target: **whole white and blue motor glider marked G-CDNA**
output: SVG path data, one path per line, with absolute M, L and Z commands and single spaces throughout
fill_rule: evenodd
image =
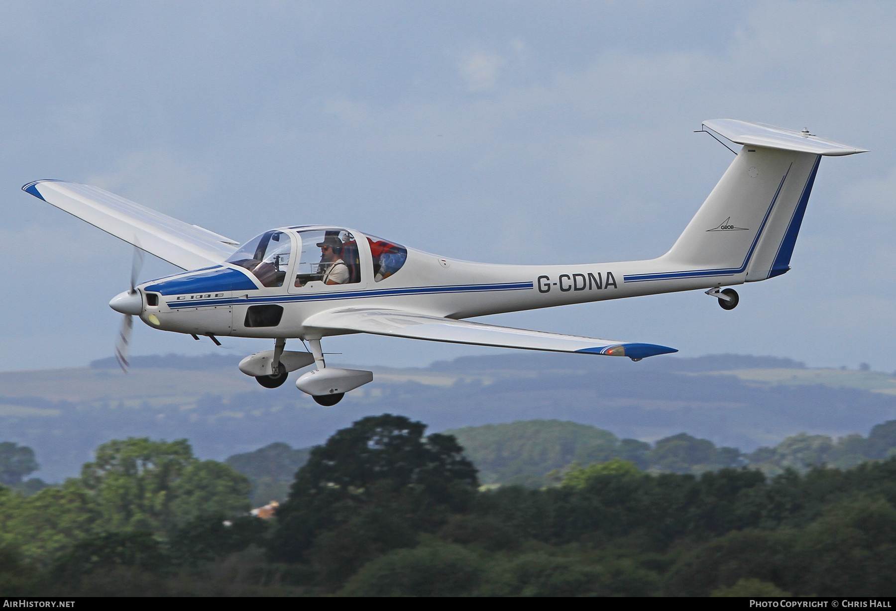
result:
M 274 340 L 240 370 L 276 388 L 314 364 L 297 388 L 335 405 L 373 373 L 327 367 L 321 340 L 328 336 L 376 333 L 639 361 L 677 350 L 461 319 L 698 288 L 733 309 L 737 292 L 722 287 L 788 271 L 822 156 L 864 151 L 772 125 L 714 119 L 703 126 L 743 148 L 668 253 L 646 261 L 466 262 L 329 225 L 275 228 L 240 245 L 95 186 L 39 180 L 22 189 L 136 246 L 131 288 L 109 302 L 125 314 L 116 347 L 125 371 L 132 316 L 140 316 L 153 329 L 197 340 Z M 188 271 L 136 285 L 141 251 Z M 286 350 L 288 339 L 307 341 L 310 352 Z

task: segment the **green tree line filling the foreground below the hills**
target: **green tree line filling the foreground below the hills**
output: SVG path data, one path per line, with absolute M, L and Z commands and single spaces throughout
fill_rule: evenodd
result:
M 480 489 L 453 435 L 366 417 L 308 452 L 274 519 L 185 440 L 101 445 L 0 492 L 4 595 L 892 596 L 896 459 L 654 473 L 619 457 Z

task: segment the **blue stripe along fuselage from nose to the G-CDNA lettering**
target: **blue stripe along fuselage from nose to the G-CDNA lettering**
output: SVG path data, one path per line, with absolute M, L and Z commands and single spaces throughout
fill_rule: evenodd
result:
M 314 295 L 260 295 L 258 297 L 228 297 L 224 299 L 190 299 L 168 301 L 168 307 L 236 306 L 239 304 L 294 303 L 302 301 L 329 301 L 337 299 L 358 299 L 362 297 L 392 297 L 396 295 L 433 295 L 436 293 L 479 293 L 502 290 L 527 290 L 535 288 L 534 282 L 508 282 L 504 284 L 465 284 L 445 287 L 385 288 L 382 290 L 353 290 Z

